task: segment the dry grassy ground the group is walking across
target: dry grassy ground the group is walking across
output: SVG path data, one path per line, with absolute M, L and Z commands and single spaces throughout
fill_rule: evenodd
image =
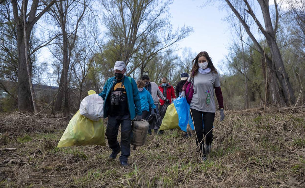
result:
M 56 148 L 67 119 L 0 117 L 0 187 L 305 187 L 305 113 L 227 111 L 208 161 L 178 130 L 148 136 L 129 168 L 101 146 Z M 218 115 L 218 114 L 217 114 Z

